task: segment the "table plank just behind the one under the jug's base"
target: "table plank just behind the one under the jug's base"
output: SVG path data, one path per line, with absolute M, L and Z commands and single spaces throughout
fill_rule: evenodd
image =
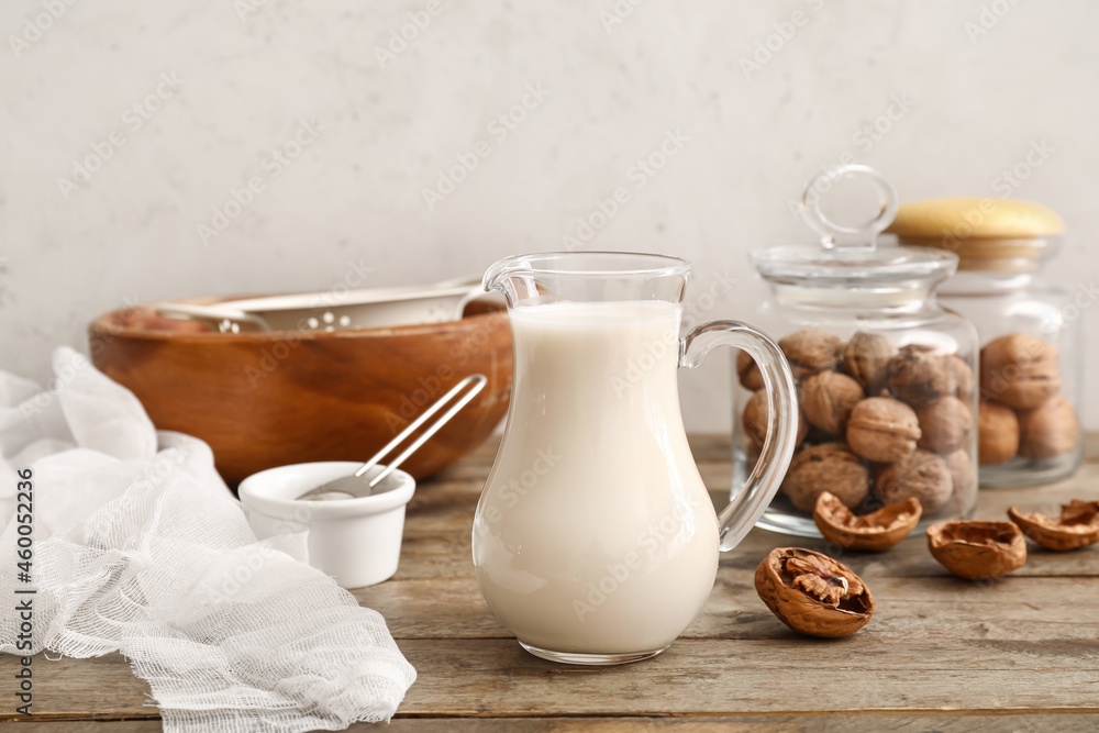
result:
M 1065 641 L 1099 638 L 1099 584 L 1076 578 L 1003 578 L 973 584 L 953 577 L 867 577 L 878 612 L 859 632 L 873 637 L 942 640 L 935 658 L 957 652 L 955 640 Z M 471 578 L 390 581 L 356 591 L 380 612 L 396 638 L 511 638 Z M 785 638 L 758 599 L 748 573 L 719 571 L 710 599 L 682 638 Z

